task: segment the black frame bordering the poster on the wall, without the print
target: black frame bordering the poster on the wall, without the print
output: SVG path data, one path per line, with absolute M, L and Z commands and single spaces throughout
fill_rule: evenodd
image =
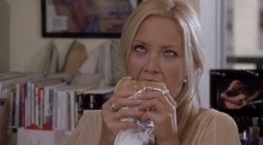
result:
M 41 32 L 44 38 L 120 38 L 121 32 L 48 32 L 47 31 L 47 2 L 58 1 L 58 0 L 41 0 Z M 118 1 L 118 0 L 116 0 Z M 137 1 L 137 6 L 142 2 L 142 0 L 131 0 Z M 51 21 L 49 19 L 49 21 Z M 90 23 L 88 23 L 90 24 Z

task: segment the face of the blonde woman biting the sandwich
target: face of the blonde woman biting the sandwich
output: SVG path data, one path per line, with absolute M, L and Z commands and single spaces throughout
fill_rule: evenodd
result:
M 127 72 L 135 80 L 166 83 L 175 97 L 186 76 L 184 59 L 177 24 L 168 18 L 149 17 L 134 38 Z

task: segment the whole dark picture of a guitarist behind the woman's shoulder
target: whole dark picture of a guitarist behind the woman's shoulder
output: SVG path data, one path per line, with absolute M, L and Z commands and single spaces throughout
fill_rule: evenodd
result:
M 226 91 L 232 82 L 241 82 L 239 97 L 256 97 L 246 103 L 234 105 L 224 98 L 225 94 L 232 97 L 237 94 Z M 238 81 L 237 81 L 238 80 Z M 232 86 L 232 85 L 231 85 Z M 232 88 L 232 87 L 231 87 Z M 256 91 L 261 91 L 258 95 Z M 241 93 L 242 92 L 242 93 Z M 237 97 L 236 97 L 237 98 Z M 236 99 L 235 98 L 235 99 Z M 239 100 L 239 99 L 238 99 Z M 210 70 L 210 106 L 230 116 L 261 116 L 263 115 L 263 70 Z M 238 108 L 243 106 L 242 108 Z

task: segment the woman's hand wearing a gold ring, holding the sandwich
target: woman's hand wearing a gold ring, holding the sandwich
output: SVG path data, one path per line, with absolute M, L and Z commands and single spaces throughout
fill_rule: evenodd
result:
M 135 93 L 136 92 L 133 91 L 116 92 L 102 105 L 102 134 L 100 145 L 113 145 L 120 130 L 138 127 L 134 122 L 121 121 L 121 118 L 140 117 L 144 113 L 143 111 L 129 109 L 114 111 L 110 109 L 110 103 L 114 104 L 115 109 L 120 109 L 126 106 L 139 106 L 142 103 L 142 100 L 137 98 L 128 98 Z

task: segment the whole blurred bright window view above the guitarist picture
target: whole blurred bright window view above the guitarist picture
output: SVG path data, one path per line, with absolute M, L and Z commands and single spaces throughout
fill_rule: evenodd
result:
M 227 68 L 262 69 L 262 0 L 228 0 L 226 39 Z

